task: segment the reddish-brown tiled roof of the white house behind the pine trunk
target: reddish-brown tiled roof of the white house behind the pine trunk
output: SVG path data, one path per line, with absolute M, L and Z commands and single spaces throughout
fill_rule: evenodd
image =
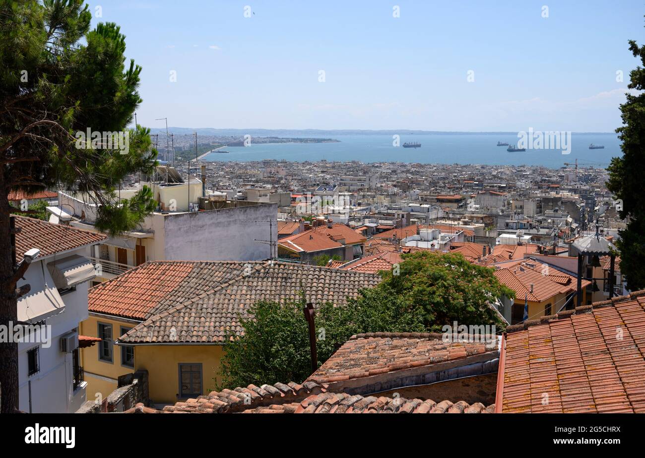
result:
M 31 248 L 39 248 L 41 256 L 72 250 L 105 240 L 103 234 L 96 234 L 72 226 L 47 223 L 40 219 L 15 216 L 15 226 L 21 231 L 15 235 L 15 257 L 22 261 L 23 254 Z

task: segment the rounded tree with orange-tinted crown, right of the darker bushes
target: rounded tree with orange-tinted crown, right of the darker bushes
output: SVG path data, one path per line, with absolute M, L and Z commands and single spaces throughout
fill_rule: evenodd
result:
M 490 308 L 498 297 L 515 297 L 499 283 L 493 269 L 466 261 L 461 254 L 403 254 L 397 272 L 383 272 L 377 288 L 390 288 L 424 311 L 426 328 L 440 332 L 444 324 L 504 325 Z

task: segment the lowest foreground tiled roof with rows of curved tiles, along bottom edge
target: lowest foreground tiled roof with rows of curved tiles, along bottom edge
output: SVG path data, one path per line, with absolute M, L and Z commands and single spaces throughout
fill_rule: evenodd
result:
M 493 413 L 495 406 L 464 401 L 392 399 L 327 392 L 314 382 L 224 389 L 166 406 L 163 411 L 137 404 L 124 413 Z

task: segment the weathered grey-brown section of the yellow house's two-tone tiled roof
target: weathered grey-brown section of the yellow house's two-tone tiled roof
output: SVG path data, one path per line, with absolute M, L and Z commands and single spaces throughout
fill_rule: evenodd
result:
M 186 280 L 166 292 L 165 299 L 148 308 L 146 321 L 119 341 L 223 343 L 227 331 L 237 335 L 243 333 L 238 315 L 244 315 L 257 301 L 296 301 L 304 286 L 308 301 L 344 304 L 347 297 L 356 297 L 361 288 L 372 288 L 381 281 L 378 275 L 303 264 L 270 261 L 194 264 L 201 270 L 196 275 L 191 272 Z M 153 272 L 161 274 L 156 268 Z M 208 286 L 193 288 L 197 276 Z M 114 300 L 114 297 L 110 299 Z M 125 304 L 130 308 L 130 299 Z

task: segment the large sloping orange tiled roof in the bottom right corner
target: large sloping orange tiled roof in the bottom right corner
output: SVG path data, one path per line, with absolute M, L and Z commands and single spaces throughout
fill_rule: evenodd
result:
M 507 331 L 498 410 L 645 412 L 645 291 Z

